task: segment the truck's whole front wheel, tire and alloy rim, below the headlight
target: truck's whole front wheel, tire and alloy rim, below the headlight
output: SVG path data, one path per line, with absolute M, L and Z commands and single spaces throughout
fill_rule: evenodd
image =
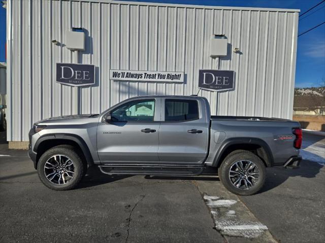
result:
M 41 181 L 48 188 L 70 190 L 82 179 L 84 164 L 73 146 L 59 145 L 42 154 L 37 171 Z

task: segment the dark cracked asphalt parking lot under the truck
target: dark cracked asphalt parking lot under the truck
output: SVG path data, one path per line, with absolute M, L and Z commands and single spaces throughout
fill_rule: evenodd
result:
M 311 139 L 325 149 L 325 138 Z M 0 142 L 0 154 L 9 155 L 0 156 L 1 242 L 325 241 L 325 169 L 308 160 L 297 170 L 269 168 L 261 192 L 238 197 L 217 177 L 113 177 L 96 168 L 78 189 L 52 191 L 25 150 Z M 230 206 L 213 211 L 207 196 Z M 267 230 L 254 231 L 253 238 L 232 236 L 224 222 Z

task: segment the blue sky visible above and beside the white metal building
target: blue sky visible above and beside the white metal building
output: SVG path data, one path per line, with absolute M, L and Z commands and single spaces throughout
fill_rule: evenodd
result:
M 301 13 L 321 0 L 151 0 L 173 4 L 300 9 Z M 299 20 L 302 33 L 325 21 L 325 2 Z M 5 61 L 6 10 L 0 7 L 0 62 Z M 298 37 L 296 87 L 319 87 L 325 84 L 325 24 Z

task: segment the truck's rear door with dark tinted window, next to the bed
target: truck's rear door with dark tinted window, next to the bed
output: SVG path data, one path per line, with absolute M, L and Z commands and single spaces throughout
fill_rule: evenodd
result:
M 208 151 L 209 125 L 197 98 L 161 99 L 160 163 L 201 164 Z M 210 117 L 209 117 L 210 119 Z

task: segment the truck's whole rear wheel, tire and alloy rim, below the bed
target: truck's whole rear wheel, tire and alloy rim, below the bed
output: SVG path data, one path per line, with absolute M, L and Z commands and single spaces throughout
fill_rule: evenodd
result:
M 225 157 L 218 169 L 220 181 L 237 195 L 252 195 L 259 191 L 266 178 L 261 158 L 246 150 L 238 150 Z

